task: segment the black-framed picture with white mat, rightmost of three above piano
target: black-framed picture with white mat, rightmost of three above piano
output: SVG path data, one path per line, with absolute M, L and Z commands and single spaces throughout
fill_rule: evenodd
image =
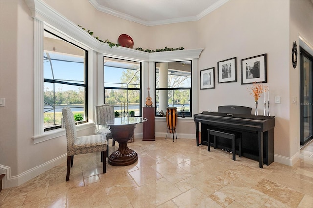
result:
M 242 59 L 241 84 L 266 83 L 266 54 Z

